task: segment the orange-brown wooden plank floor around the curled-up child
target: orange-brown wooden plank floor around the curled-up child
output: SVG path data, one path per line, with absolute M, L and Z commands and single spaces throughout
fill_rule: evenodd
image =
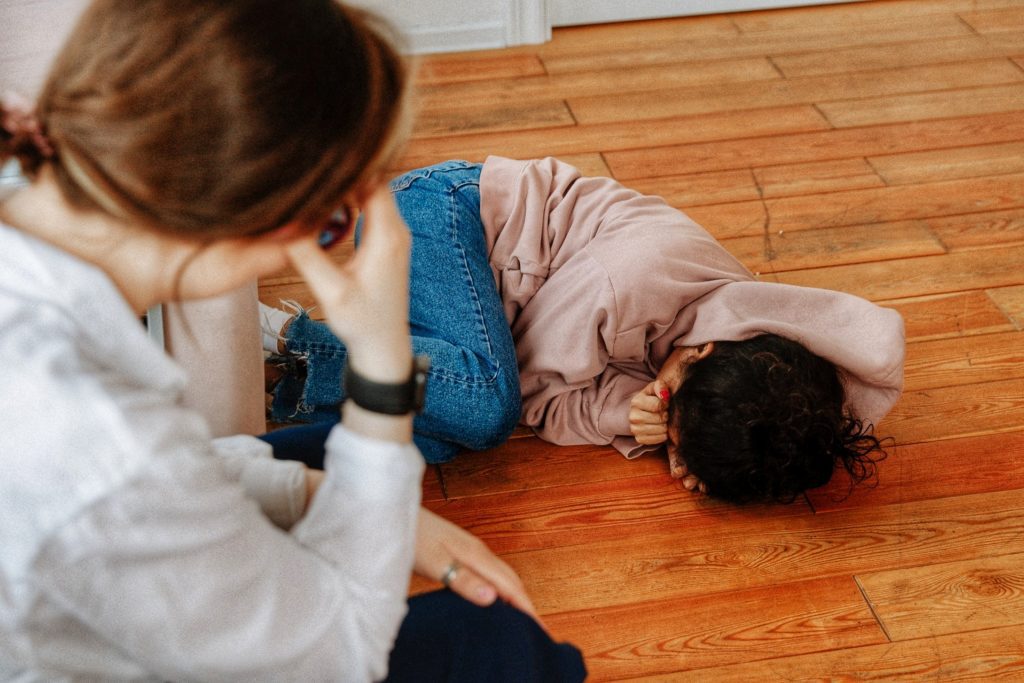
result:
M 592 680 L 1024 680 L 1024 1 L 563 29 L 418 82 L 403 169 L 557 156 L 764 280 L 906 321 L 897 445 L 845 500 L 737 509 L 662 458 L 531 436 L 428 473 L 427 505 L 519 570 Z M 289 274 L 261 296 L 309 300 Z

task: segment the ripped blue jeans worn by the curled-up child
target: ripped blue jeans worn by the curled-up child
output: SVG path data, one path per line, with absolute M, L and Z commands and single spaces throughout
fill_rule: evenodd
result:
M 431 360 L 415 440 L 428 463 L 442 463 L 463 449 L 498 445 L 515 428 L 522 402 L 515 346 L 487 262 L 480 165 L 452 161 L 411 171 L 391 182 L 391 191 L 413 236 L 413 350 Z M 271 419 L 337 422 L 344 344 L 300 313 L 285 347 L 305 356 L 306 377 L 298 386 L 294 378 L 279 384 Z

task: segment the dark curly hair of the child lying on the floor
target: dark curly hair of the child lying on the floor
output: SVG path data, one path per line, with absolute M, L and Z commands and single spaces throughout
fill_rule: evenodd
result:
M 836 366 L 766 334 L 716 342 L 689 366 L 669 423 L 678 430 L 683 462 L 709 496 L 792 503 L 826 483 L 837 467 L 854 483 L 872 478 L 885 458 L 871 427 L 846 413 L 844 401 Z

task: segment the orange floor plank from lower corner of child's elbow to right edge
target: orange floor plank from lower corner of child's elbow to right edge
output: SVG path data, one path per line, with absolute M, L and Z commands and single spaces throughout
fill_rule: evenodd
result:
M 897 443 L 949 439 L 1020 429 L 1024 379 L 905 391 L 879 425 Z

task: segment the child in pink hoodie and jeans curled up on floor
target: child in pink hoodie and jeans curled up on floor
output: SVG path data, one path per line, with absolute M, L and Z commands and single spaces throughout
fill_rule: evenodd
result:
M 737 503 L 873 473 L 873 425 L 902 387 L 895 311 L 759 282 L 659 198 L 554 159 L 446 162 L 391 189 L 413 233 L 414 347 L 433 364 L 415 423 L 428 462 L 521 422 L 627 458 L 666 443 L 687 488 Z M 305 364 L 272 418 L 336 421 L 344 346 L 303 311 L 263 311 L 269 346 Z

